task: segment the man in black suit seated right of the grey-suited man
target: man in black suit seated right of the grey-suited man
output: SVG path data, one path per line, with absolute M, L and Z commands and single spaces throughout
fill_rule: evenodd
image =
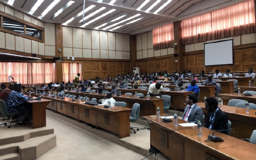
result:
M 227 129 L 227 114 L 218 108 L 218 101 L 214 97 L 208 97 L 204 104 L 209 113 L 204 127 L 215 131 Z M 226 131 L 221 131 L 221 133 L 226 133 Z

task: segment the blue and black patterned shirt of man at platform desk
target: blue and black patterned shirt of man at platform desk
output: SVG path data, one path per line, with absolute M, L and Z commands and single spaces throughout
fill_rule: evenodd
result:
M 10 92 L 5 100 L 7 111 L 15 112 L 20 110 L 20 106 L 22 106 L 23 103 L 27 100 L 29 100 L 28 97 L 24 96 L 23 94 L 20 94 L 17 91 Z

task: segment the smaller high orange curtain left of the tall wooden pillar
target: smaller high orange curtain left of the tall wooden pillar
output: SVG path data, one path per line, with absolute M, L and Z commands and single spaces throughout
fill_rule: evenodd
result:
M 173 46 L 173 23 L 153 30 L 154 50 Z

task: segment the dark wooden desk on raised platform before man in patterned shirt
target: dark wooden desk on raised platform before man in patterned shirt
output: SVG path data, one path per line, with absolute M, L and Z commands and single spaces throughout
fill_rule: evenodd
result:
M 46 111 L 45 107 L 51 100 L 28 100 L 25 102 L 26 106 L 32 107 L 32 126 L 33 129 L 46 126 Z

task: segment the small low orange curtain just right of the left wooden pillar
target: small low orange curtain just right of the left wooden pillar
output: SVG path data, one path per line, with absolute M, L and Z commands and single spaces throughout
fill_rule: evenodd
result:
M 63 68 L 63 81 L 67 82 L 70 80 L 70 82 L 73 82 L 76 75 L 78 73 L 81 74 L 82 67 L 81 63 L 62 63 Z M 79 80 L 82 80 L 82 76 L 79 77 Z

